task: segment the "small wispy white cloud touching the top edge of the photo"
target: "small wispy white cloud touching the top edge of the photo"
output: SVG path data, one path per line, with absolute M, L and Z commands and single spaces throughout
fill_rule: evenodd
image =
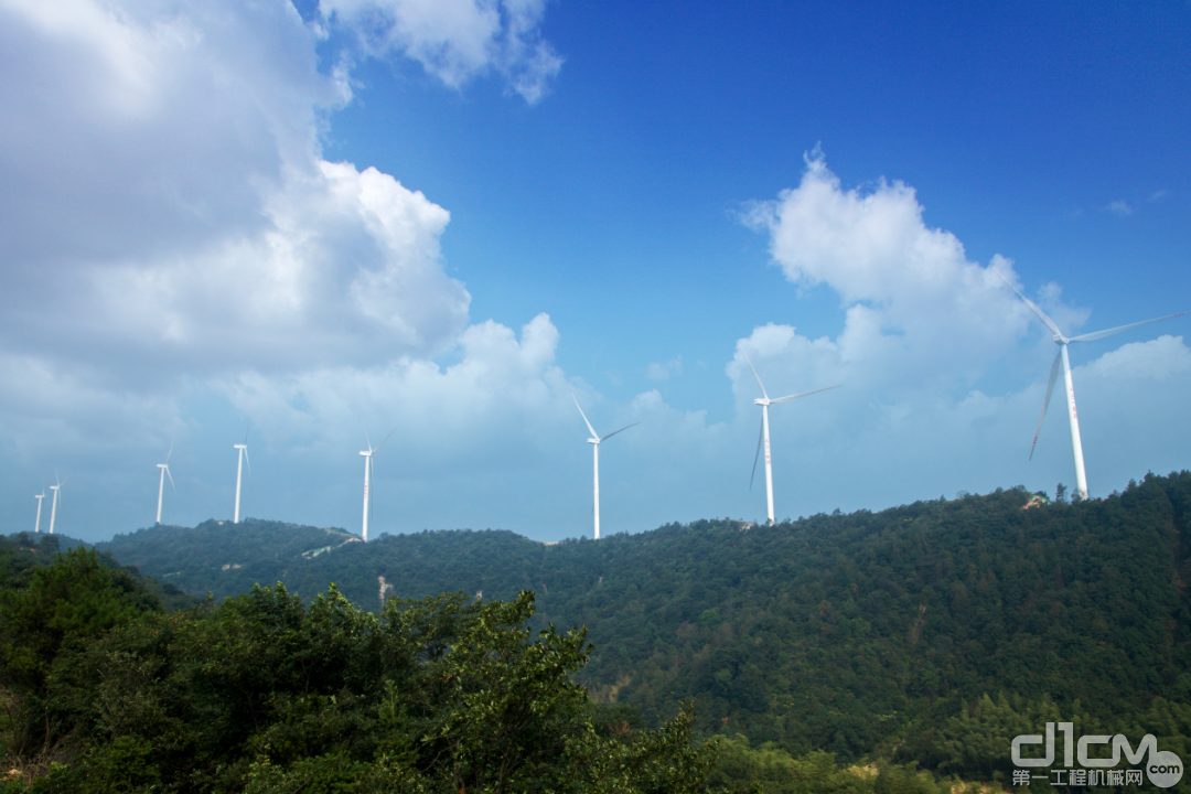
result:
M 412 58 L 456 88 L 495 70 L 534 105 L 562 68 L 541 38 L 544 0 L 320 0 L 319 11 L 366 54 Z

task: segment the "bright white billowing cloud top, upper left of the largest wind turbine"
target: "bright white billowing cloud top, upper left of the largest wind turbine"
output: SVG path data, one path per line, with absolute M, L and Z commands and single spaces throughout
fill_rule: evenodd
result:
M 837 338 L 782 343 L 803 350 L 812 382 L 966 383 L 1025 333 L 1028 310 L 991 268 L 968 261 L 953 233 L 929 227 L 923 212 L 903 182 L 844 189 L 818 150 L 807 155 L 797 188 L 748 208 L 747 223 L 768 233 L 773 262 L 788 281 L 825 285 L 843 301 Z M 1016 277 L 1009 260 L 998 256 L 992 265 Z M 782 333 L 768 330 L 754 342 L 771 349 Z

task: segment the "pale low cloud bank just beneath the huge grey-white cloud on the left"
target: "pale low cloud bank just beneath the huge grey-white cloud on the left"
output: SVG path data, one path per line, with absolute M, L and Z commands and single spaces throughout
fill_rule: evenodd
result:
M 557 344 L 545 314 L 528 323 L 519 339 L 488 320 L 463 331 L 460 361 L 448 367 L 405 356 L 366 368 L 250 371 L 220 388 L 270 443 L 305 439 L 294 446 L 301 455 L 322 457 L 344 439 L 362 440 L 360 425 L 368 423 L 376 432 L 397 425 L 393 449 L 424 469 L 482 469 L 518 459 L 549 438 L 545 429 L 572 419 L 570 393 L 587 389 L 554 364 Z M 462 438 L 466 452 L 448 440 Z

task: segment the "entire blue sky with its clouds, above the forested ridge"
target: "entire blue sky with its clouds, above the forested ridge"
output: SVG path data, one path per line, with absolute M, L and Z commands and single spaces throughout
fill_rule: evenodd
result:
M 1073 484 L 1054 346 L 1191 308 L 1191 4 L 0 1 L 0 506 L 604 533 Z M 1189 318 L 1072 349 L 1092 495 Z M 1061 395 L 1060 395 L 1061 396 Z M 48 518 L 43 514 L 42 529 Z

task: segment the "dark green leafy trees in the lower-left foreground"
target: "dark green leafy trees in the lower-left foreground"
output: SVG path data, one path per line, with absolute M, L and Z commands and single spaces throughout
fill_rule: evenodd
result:
M 58 604 L 111 590 L 83 577 Z M 333 586 L 307 607 L 279 584 L 100 614 L 102 630 L 81 621 L 57 646 L 42 709 L 18 715 L 69 761 L 30 790 L 681 793 L 713 761 L 687 713 L 603 734 L 572 677 L 584 631 L 530 629 L 531 593 L 391 600 L 374 615 Z

